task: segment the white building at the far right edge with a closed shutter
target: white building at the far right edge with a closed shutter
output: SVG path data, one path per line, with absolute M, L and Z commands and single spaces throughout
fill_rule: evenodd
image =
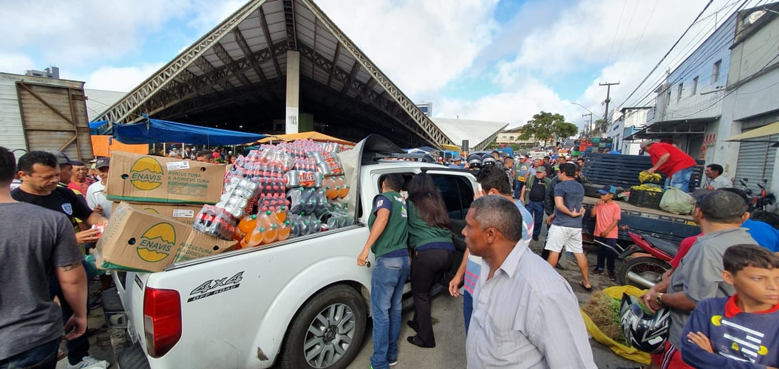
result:
M 736 187 L 740 187 L 739 179 L 749 178 L 753 191 L 763 179 L 774 192 L 779 190 L 775 147 L 779 142 L 777 12 L 779 3 L 738 12 L 738 36 L 731 46 L 722 101 L 723 123 L 716 131 L 707 131 L 717 136 L 716 146 L 710 147 L 714 161 L 731 168 Z

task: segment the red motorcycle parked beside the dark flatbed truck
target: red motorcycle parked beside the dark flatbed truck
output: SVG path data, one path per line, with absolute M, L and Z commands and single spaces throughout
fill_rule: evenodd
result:
M 661 281 L 664 272 L 671 269 L 668 262 L 679 251 L 679 244 L 662 238 L 652 237 L 635 230 L 629 230 L 628 235 L 633 244 L 621 252 L 611 248 L 625 262 L 622 263 L 617 276 L 622 286 L 632 285 L 648 289 Z M 601 244 L 601 246 L 608 245 Z M 632 256 L 636 253 L 648 253 L 650 256 Z

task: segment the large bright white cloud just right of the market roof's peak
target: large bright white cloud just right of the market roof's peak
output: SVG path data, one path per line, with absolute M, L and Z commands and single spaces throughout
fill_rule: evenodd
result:
M 333 22 L 412 98 L 439 90 L 488 47 L 497 0 L 322 0 Z

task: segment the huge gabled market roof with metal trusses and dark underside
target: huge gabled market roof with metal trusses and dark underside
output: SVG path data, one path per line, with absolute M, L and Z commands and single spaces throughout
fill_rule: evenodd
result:
M 132 123 L 146 113 L 280 132 L 288 51 L 300 52 L 300 111 L 324 133 L 453 143 L 312 0 L 250 0 L 94 120 Z

